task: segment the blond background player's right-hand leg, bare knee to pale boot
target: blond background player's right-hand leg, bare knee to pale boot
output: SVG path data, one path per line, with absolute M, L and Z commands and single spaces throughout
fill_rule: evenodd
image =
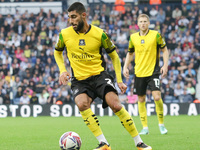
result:
M 163 100 L 161 98 L 161 92 L 152 91 L 152 95 L 153 95 L 154 102 L 156 105 L 156 113 L 158 117 L 160 132 L 161 134 L 167 134 L 167 129 L 164 126 Z

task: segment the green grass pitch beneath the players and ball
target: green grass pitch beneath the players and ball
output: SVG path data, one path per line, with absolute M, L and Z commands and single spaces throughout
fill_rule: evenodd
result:
M 98 118 L 112 150 L 136 150 L 116 116 Z M 133 119 L 141 130 L 139 117 Z M 150 134 L 141 137 L 153 150 L 200 150 L 200 116 L 166 116 L 167 135 L 160 134 L 156 116 L 148 117 L 148 123 Z M 0 150 L 59 150 L 59 138 L 66 131 L 81 136 L 81 150 L 98 144 L 80 117 L 8 117 L 0 118 Z

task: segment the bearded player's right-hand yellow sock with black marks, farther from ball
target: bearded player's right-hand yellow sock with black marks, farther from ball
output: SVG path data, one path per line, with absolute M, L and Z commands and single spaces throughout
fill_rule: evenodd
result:
M 130 133 L 132 137 L 135 137 L 138 135 L 138 131 L 135 127 L 135 124 L 133 122 L 133 119 L 131 118 L 130 114 L 122 107 L 122 109 L 115 113 L 117 115 L 122 123 L 122 125 L 125 127 L 125 129 Z

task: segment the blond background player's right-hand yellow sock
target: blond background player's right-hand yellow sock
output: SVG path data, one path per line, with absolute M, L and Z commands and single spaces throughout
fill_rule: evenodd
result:
M 155 101 L 156 104 L 156 113 L 158 117 L 158 122 L 159 124 L 164 123 L 164 118 L 163 118 L 163 101 L 160 99 L 159 101 Z

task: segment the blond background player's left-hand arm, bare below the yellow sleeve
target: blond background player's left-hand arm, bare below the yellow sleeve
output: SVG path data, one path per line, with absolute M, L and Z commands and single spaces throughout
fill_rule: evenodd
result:
M 128 49 L 128 53 L 126 54 L 126 59 L 125 59 L 125 63 L 124 63 L 124 67 L 123 67 L 123 75 L 126 78 L 129 78 L 129 70 L 128 70 L 128 66 L 131 63 L 131 61 L 133 60 L 133 56 L 134 56 L 134 45 L 131 41 L 131 38 L 129 40 L 129 49 Z

